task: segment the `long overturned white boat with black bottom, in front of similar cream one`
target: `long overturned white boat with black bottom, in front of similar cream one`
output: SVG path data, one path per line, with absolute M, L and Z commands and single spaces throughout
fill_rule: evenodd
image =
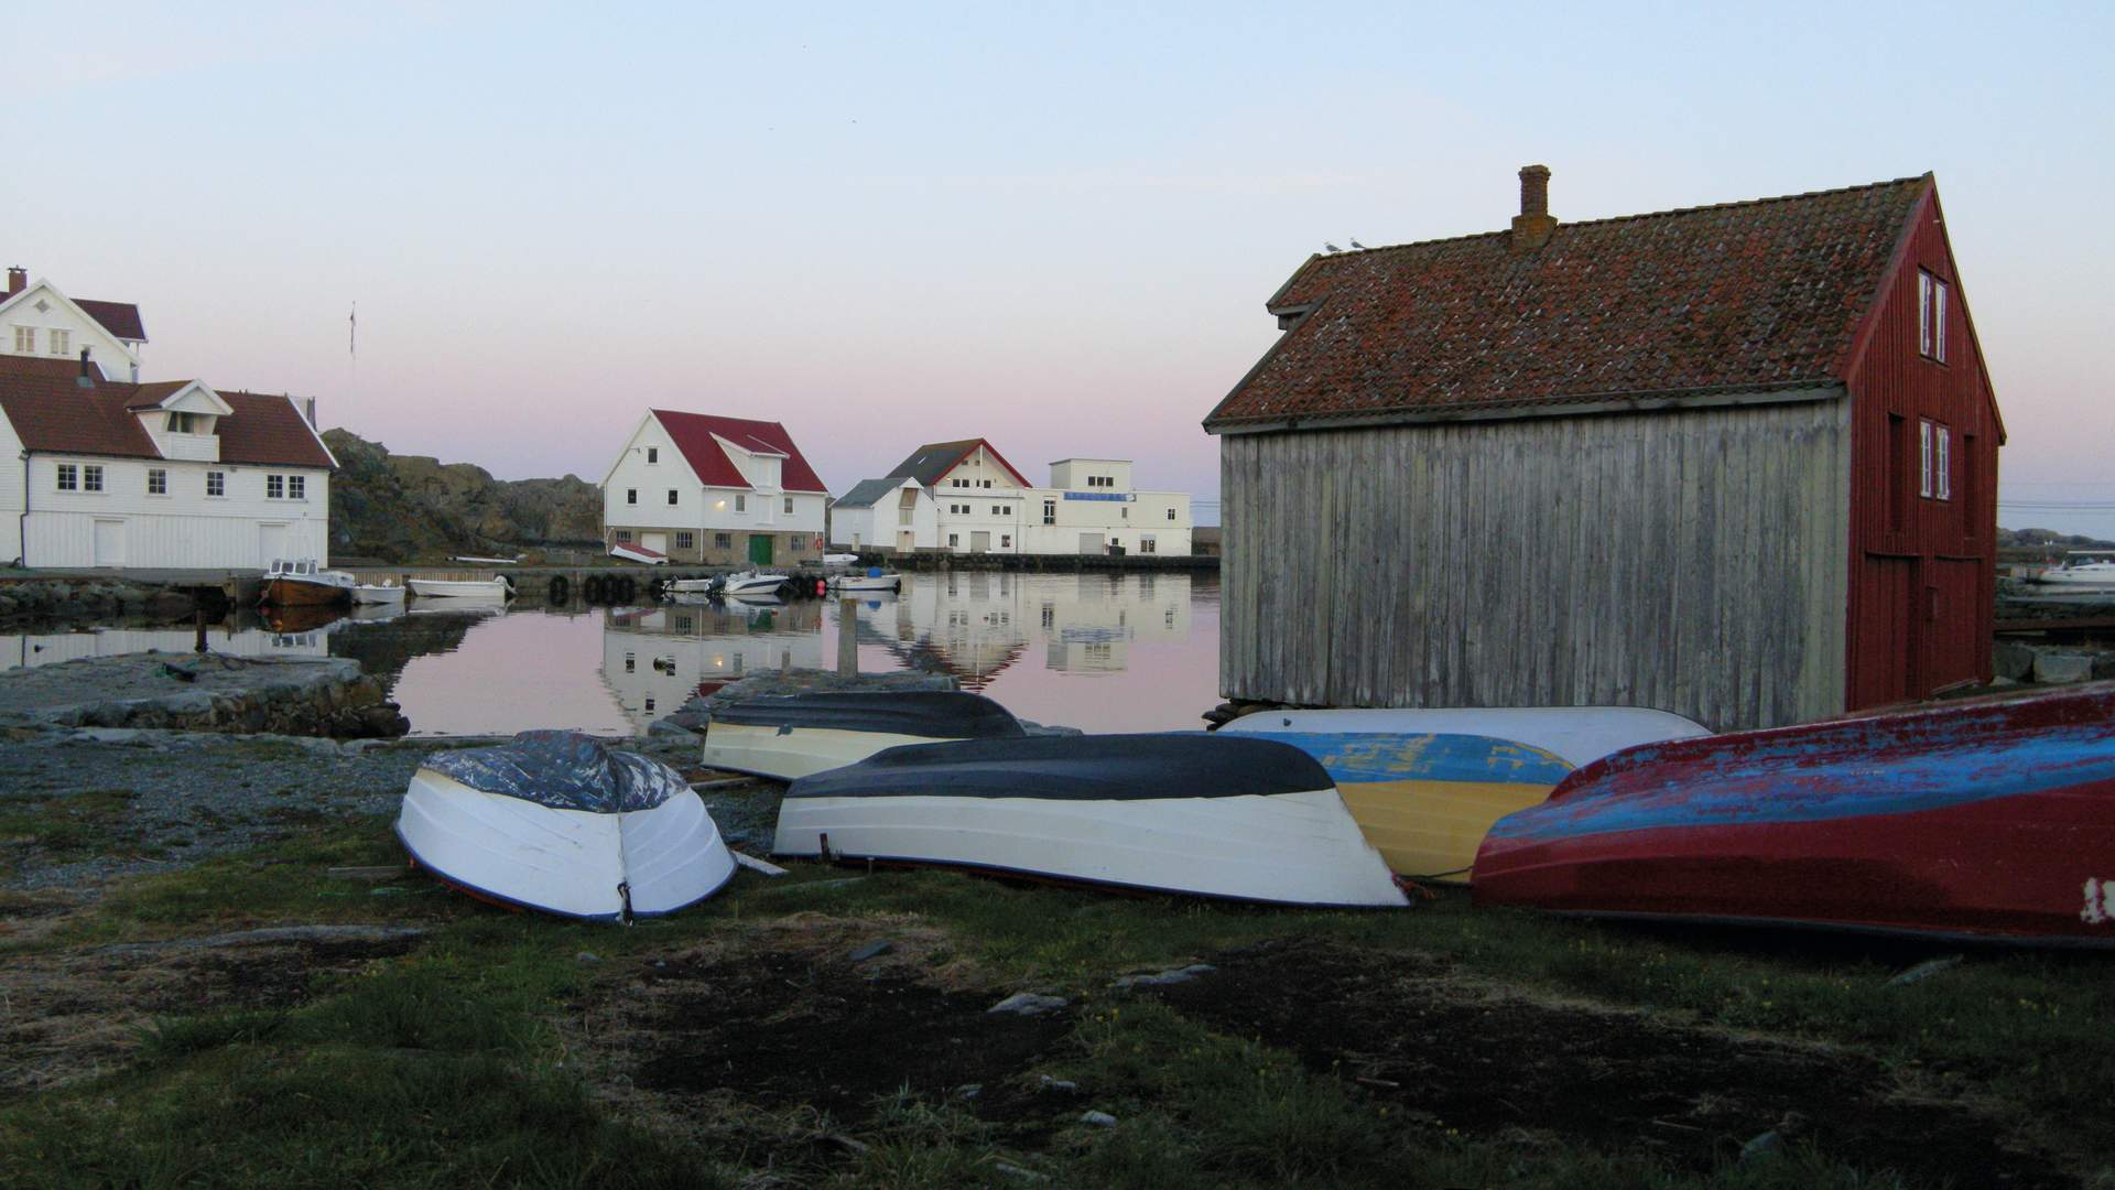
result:
M 793 781 L 772 851 L 1271 904 L 1406 904 L 1328 773 L 1269 739 L 890 747 Z

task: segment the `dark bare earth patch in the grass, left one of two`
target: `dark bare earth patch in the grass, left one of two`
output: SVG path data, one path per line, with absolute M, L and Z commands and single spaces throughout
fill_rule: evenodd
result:
M 1005 993 L 950 993 L 844 959 L 761 953 L 647 968 L 651 1038 L 637 1084 L 658 1093 L 732 1090 L 761 1105 L 812 1105 L 835 1120 L 871 1114 L 901 1086 L 945 1097 L 979 1084 L 988 1120 L 1047 1110 L 1024 1080 L 1072 1029 L 1070 1016 L 986 1014 Z

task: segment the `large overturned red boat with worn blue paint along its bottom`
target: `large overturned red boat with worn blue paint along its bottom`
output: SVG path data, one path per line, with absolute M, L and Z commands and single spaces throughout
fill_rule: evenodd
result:
M 2115 684 L 1618 752 L 1491 828 L 1474 900 L 2115 946 Z

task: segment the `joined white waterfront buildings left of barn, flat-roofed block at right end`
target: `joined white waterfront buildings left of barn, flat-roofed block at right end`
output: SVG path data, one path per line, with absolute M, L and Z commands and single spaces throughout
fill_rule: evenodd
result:
M 884 483 L 918 485 L 933 502 L 933 540 L 880 536 L 873 510 L 863 521 L 846 517 L 848 534 L 871 534 L 863 544 L 886 553 L 1024 553 L 1024 555 L 1189 555 L 1191 500 L 1187 491 L 1138 491 L 1129 459 L 1058 459 L 1049 487 L 1032 487 L 983 438 L 928 443 L 897 464 L 886 481 L 863 481 L 852 493 L 880 491 Z M 852 493 L 846 498 L 850 500 Z M 842 504 L 842 502 L 840 502 Z M 857 527 L 852 527 L 857 523 Z

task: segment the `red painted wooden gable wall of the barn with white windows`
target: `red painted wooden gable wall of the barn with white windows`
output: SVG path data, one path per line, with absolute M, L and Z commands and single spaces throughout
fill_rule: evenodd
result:
M 1842 373 L 1853 400 L 1849 709 L 1990 680 L 2003 430 L 1937 193 L 1910 218 Z M 1920 269 L 1948 284 L 1944 364 L 1918 345 Z M 1918 419 L 1952 430 L 1952 500 L 1918 495 Z

